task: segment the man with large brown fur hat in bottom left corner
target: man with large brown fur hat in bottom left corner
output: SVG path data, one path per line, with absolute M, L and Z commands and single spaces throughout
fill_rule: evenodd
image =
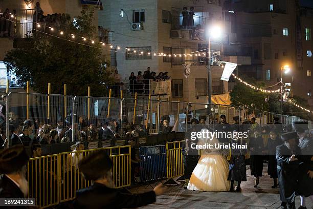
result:
M 23 145 L 15 145 L 0 153 L 0 173 L 2 174 L 0 175 L 0 198 L 25 198 L 27 196 L 26 165 L 28 159 Z

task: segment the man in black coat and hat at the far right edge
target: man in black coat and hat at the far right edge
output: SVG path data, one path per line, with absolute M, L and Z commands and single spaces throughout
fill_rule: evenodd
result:
M 301 149 L 301 161 L 299 165 L 299 181 L 296 194 L 300 195 L 300 207 L 306 208 L 305 198 L 309 197 L 313 202 L 313 139 L 306 134 L 307 121 L 293 122 L 293 128 L 299 137 L 299 148 Z

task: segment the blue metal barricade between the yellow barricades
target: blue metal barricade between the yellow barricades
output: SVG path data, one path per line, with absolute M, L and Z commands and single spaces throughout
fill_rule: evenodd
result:
M 141 180 L 166 178 L 166 149 L 164 145 L 139 148 Z

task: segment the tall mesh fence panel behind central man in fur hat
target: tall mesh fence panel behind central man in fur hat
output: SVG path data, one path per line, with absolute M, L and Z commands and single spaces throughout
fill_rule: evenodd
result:
M 159 133 L 163 133 L 163 121 L 167 119 L 168 126 L 172 127 L 172 131 L 185 132 L 187 121 L 190 121 L 190 112 L 187 113 L 187 102 L 179 101 L 160 101 L 160 127 Z

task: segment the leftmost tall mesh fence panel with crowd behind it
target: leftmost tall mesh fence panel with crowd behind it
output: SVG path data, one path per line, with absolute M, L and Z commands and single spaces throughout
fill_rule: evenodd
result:
M 21 140 L 13 142 L 10 140 L 10 145 L 58 143 L 66 135 L 65 126 L 68 123 L 68 116 L 72 115 L 73 97 L 71 95 L 10 92 L 8 106 L 10 130 L 13 132 L 14 129 L 20 127 L 20 131 L 23 132 Z M 24 126 L 23 122 L 27 119 L 32 122 Z M 24 132 L 24 129 L 27 130 Z

